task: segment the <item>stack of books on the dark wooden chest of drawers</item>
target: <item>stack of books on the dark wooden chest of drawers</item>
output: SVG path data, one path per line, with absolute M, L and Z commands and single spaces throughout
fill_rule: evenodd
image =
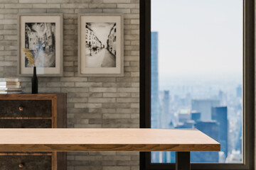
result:
M 0 78 L 0 94 L 21 94 L 21 79 Z

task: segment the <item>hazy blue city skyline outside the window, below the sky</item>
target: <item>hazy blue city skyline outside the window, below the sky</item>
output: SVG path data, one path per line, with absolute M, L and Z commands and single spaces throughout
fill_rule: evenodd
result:
M 220 142 L 220 152 L 191 152 L 191 162 L 242 163 L 242 81 L 164 80 L 172 85 L 160 89 L 158 42 L 151 32 L 151 128 L 196 128 Z M 151 152 L 152 163 L 175 163 L 175 157 Z

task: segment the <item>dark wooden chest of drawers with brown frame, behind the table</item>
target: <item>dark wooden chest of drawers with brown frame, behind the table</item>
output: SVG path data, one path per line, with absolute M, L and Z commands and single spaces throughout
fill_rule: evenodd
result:
M 1 94 L 0 128 L 66 128 L 66 94 Z M 1 152 L 0 169 L 67 169 L 66 152 Z

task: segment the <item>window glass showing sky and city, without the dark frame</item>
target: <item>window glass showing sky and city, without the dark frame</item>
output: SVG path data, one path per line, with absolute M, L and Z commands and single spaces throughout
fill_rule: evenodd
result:
M 151 128 L 197 128 L 221 152 L 191 162 L 242 163 L 242 0 L 151 0 Z M 152 152 L 174 163 L 175 152 Z

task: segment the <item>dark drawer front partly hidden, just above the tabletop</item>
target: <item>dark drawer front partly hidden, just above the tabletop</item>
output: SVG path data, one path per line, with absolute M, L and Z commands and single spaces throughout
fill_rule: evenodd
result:
M 50 119 L 0 119 L 0 128 L 51 128 Z

